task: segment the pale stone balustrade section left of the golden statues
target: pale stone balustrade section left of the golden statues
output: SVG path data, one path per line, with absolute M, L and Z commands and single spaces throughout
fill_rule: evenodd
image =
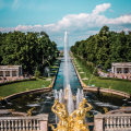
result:
M 0 117 L 0 131 L 48 131 L 48 115 Z

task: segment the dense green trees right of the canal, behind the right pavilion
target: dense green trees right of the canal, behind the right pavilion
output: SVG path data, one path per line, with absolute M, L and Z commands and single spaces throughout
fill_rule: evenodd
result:
M 105 25 L 98 34 L 76 41 L 71 51 L 105 69 L 110 68 L 111 62 L 131 62 L 131 32 L 110 32 Z

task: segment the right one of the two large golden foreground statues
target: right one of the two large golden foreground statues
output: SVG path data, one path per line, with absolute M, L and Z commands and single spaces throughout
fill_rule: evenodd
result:
M 90 131 L 88 126 L 86 124 L 84 118 L 86 111 L 91 110 L 93 107 L 91 104 L 86 103 L 86 98 L 83 98 L 83 102 L 80 102 L 79 109 L 75 109 L 70 115 L 70 131 Z M 87 107 L 84 108 L 85 104 Z M 73 118 L 73 116 L 76 116 Z

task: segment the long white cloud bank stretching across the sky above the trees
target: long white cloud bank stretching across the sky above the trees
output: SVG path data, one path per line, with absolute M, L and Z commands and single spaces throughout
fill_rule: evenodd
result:
M 14 5 L 17 3 L 17 0 L 14 1 Z M 58 21 L 57 24 L 47 24 L 47 25 L 17 25 L 16 27 L 9 27 L 9 29 L 15 31 L 46 31 L 51 34 L 60 34 L 61 32 L 68 31 L 69 33 L 82 33 L 86 31 L 92 31 L 93 28 L 102 27 L 103 25 L 122 25 L 122 24 L 131 24 L 131 14 L 121 15 L 116 19 L 107 19 L 104 14 L 99 14 L 100 12 L 105 12 L 108 8 L 110 8 L 110 3 L 104 3 L 96 5 L 93 13 L 80 13 L 80 14 L 67 14 L 63 16 L 61 21 Z M 7 31 L 8 28 L 5 28 Z M 1 32 L 4 28 L 0 29 Z

